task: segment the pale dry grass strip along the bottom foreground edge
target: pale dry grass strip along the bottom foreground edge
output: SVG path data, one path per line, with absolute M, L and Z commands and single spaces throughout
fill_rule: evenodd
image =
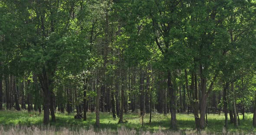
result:
M 159 129 L 156 132 L 148 132 L 148 131 L 136 131 L 126 129 L 124 127 L 115 131 L 111 131 L 109 129 L 101 129 L 99 131 L 95 131 L 94 128 L 90 128 L 89 130 L 78 128 L 78 129 L 68 129 L 68 128 L 56 128 L 54 126 L 0 126 L 0 135 L 215 135 L 215 133 L 210 132 L 196 132 L 195 130 L 186 130 L 186 131 L 170 131 L 170 130 L 161 130 Z M 243 132 L 226 132 L 223 129 L 222 135 L 255 135 L 255 133 L 247 133 Z

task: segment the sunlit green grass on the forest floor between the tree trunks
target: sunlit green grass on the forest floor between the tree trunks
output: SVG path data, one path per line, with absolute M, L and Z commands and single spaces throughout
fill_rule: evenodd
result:
M 62 114 L 56 113 L 56 123 L 50 123 L 56 129 L 67 128 L 69 130 L 82 129 L 93 129 L 95 124 L 95 113 L 87 113 L 87 121 L 82 119 L 74 119 L 75 113 Z M 124 115 L 124 121 L 126 123 L 118 124 L 118 119 L 112 118 L 112 113 L 101 113 L 100 123 L 101 129 L 108 129 L 108 131 L 116 132 L 118 129 L 125 127 L 128 130 L 134 129 L 135 131 L 168 131 L 170 127 L 170 114 L 164 116 L 162 114 L 154 113 L 152 115 L 152 122 L 149 123 L 149 114 L 144 116 L 144 126 L 141 128 L 142 118 L 138 113 L 128 113 Z M 230 133 L 256 133 L 256 129 L 252 125 L 253 114 L 246 114 L 245 119 L 242 119 L 240 115 L 240 126 L 239 129 L 235 129 L 233 124 L 229 125 L 228 132 Z M 224 115 L 223 114 L 208 114 L 208 125 L 204 132 L 207 133 L 223 133 L 224 125 Z M 0 111 L 0 125 L 1 128 L 10 129 L 17 125 L 19 126 L 38 126 L 42 127 L 43 114 L 38 112 L 27 113 L 27 111 Z M 178 132 L 194 132 L 195 122 L 192 114 L 177 114 L 177 126 Z

